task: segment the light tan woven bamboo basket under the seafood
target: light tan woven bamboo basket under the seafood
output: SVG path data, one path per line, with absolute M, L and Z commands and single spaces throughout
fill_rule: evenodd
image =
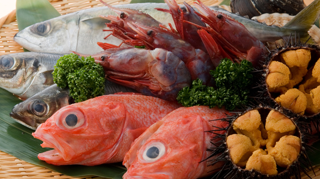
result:
M 61 15 L 73 13 L 82 9 L 104 6 L 99 0 L 48 0 Z M 105 0 L 111 5 L 127 4 L 131 0 Z M 183 1 L 192 2 L 193 0 L 176 0 L 178 3 Z M 222 0 L 202 0 L 208 6 L 217 5 Z M 312 0 L 311 0 L 312 1 Z M 0 19 L 0 55 L 23 52 L 23 48 L 18 45 L 13 37 L 18 32 L 16 23 L 16 10 Z M 308 175 L 314 179 L 320 179 L 320 166 L 314 168 Z M 0 179 L 23 178 L 23 179 L 84 179 L 73 178 L 61 173 L 52 171 L 48 168 L 29 164 L 16 157 L 0 151 Z M 302 179 L 307 179 L 302 174 Z M 103 179 L 101 177 L 88 176 L 85 179 Z

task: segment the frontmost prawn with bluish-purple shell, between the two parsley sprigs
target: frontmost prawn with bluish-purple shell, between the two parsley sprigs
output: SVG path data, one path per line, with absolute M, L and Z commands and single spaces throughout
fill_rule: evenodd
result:
M 185 63 L 161 48 L 112 48 L 92 57 L 103 66 L 110 81 L 144 95 L 175 101 L 177 93 L 192 82 Z

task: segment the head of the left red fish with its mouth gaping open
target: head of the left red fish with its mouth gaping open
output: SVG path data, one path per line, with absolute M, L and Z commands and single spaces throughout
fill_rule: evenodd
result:
M 42 147 L 54 148 L 40 153 L 40 160 L 95 165 L 116 154 L 114 146 L 125 125 L 126 107 L 119 102 L 97 105 L 91 100 L 61 108 L 32 133 L 43 141 Z

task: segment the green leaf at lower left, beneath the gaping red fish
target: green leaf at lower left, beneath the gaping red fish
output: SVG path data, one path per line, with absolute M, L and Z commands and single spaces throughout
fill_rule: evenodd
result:
M 126 168 L 121 164 L 101 164 L 96 166 L 47 164 L 37 158 L 38 153 L 47 151 L 42 148 L 41 140 L 33 138 L 33 130 L 17 123 L 9 114 L 14 105 L 20 103 L 16 96 L 0 89 L 0 150 L 31 164 L 47 167 L 71 177 L 100 176 L 110 179 L 122 179 Z

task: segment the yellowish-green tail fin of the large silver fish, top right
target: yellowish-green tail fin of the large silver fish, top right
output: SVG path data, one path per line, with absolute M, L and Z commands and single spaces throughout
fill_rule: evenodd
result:
M 309 30 L 311 26 L 319 19 L 320 15 L 320 0 L 314 0 L 311 4 L 305 7 L 300 13 L 295 15 L 283 28 Z

